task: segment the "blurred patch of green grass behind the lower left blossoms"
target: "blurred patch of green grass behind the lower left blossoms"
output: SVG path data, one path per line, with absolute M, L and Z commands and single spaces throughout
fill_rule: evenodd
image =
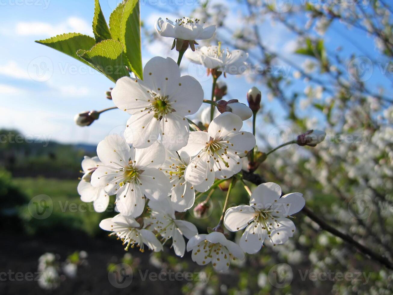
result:
M 77 229 L 94 235 L 101 232 L 99 222 L 114 215 L 113 212 L 94 212 L 92 203 L 82 202 L 77 193 L 78 180 L 27 177 L 15 178 L 12 182 L 28 196 L 26 203 L 37 195 L 48 195 L 51 198 L 53 212 L 46 219 L 34 218 L 29 213 L 28 205 L 22 206 L 20 216 L 30 233 L 41 230 Z

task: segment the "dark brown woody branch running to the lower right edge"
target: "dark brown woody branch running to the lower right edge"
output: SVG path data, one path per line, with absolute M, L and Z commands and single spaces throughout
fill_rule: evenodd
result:
M 251 172 L 246 172 L 243 171 L 243 179 L 250 181 L 253 184 L 259 185 L 261 183 L 266 182 L 261 175 L 251 173 Z M 319 218 L 312 210 L 310 210 L 307 206 L 304 206 L 304 208 L 301 210 L 305 216 L 310 218 L 312 221 L 317 223 L 321 229 L 326 230 L 327 232 L 330 232 L 334 236 L 338 236 L 345 242 L 349 243 L 353 247 L 355 247 L 358 251 L 360 251 L 362 254 L 365 256 L 368 256 L 369 258 L 379 262 L 380 264 L 384 265 L 388 269 L 393 270 L 393 264 L 384 256 L 375 253 L 374 251 L 371 251 L 369 248 L 365 247 L 364 245 L 360 244 L 359 242 L 356 242 L 351 236 L 348 234 L 345 234 L 343 232 L 340 232 L 340 230 L 335 229 L 334 227 L 330 226 L 327 224 L 325 221 L 323 221 L 321 218 Z

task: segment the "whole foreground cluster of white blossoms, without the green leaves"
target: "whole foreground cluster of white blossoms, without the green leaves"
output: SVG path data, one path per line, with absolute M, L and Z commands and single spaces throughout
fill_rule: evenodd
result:
M 223 50 L 220 44 L 195 48 L 195 40 L 211 38 L 215 26 L 204 27 L 195 18 L 159 19 L 156 29 L 162 37 L 174 38 L 178 51 L 189 45 L 192 51 L 185 56 L 208 68 L 215 79 L 246 69 L 248 53 L 242 50 Z M 202 111 L 207 130 L 190 124 L 187 116 L 201 108 L 204 91 L 194 77 L 181 75 L 178 63 L 153 57 L 143 68 L 143 80 L 118 79 L 112 100 L 131 115 L 124 137 L 107 136 L 97 146 L 97 157 L 85 157 L 78 192 L 97 212 L 105 211 L 110 196 L 116 195 L 119 214 L 102 220 L 100 227 L 119 238 L 126 250 L 136 246 L 141 252 L 146 247 L 158 252 L 171 240 L 176 255 L 182 257 L 187 249 L 196 263 L 226 271 L 231 261 L 243 260 L 244 252 L 257 253 L 264 242 L 285 243 L 295 230 L 290 216 L 305 201 L 300 193 L 281 197 L 275 183 L 259 185 L 249 206 L 229 208 L 223 215 L 228 230 L 245 229 L 239 244 L 227 240 L 222 230 L 198 234 L 193 223 L 182 220 L 184 214 L 176 214 L 194 206 L 196 193 L 239 173 L 242 158 L 256 144 L 252 133 L 242 131 L 243 120 L 253 112 L 238 101 L 222 101 L 221 109 L 217 104 L 221 114 L 211 107 Z M 253 89 L 249 99 L 259 95 L 260 101 L 257 92 Z

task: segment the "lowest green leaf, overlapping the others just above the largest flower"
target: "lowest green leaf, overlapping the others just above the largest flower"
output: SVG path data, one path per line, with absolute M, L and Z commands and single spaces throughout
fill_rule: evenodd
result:
M 115 83 L 121 77 L 130 76 L 124 63 L 123 44 L 119 41 L 104 40 L 88 51 L 78 50 L 77 54 Z

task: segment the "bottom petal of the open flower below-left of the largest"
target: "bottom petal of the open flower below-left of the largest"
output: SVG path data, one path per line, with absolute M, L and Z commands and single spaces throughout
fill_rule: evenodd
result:
M 138 185 L 124 184 L 116 194 L 116 207 L 125 216 L 138 217 L 145 208 L 145 198 Z

